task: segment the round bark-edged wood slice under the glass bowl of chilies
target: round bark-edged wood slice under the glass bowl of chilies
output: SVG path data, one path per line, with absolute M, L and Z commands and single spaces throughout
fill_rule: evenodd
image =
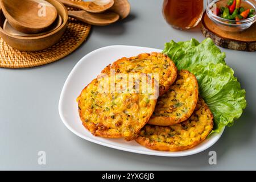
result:
M 245 31 L 225 32 L 210 20 L 206 13 L 201 21 L 201 31 L 217 46 L 238 51 L 256 51 L 256 23 Z

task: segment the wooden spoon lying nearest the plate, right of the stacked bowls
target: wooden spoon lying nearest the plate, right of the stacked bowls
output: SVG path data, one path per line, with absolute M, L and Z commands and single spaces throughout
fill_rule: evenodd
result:
M 96 25 L 96 26 L 105 26 L 117 22 L 119 15 L 113 12 L 104 12 L 104 13 L 88 13 L 86 11 L 68 11 L 68 15 L 76 18 L 82 22 Z

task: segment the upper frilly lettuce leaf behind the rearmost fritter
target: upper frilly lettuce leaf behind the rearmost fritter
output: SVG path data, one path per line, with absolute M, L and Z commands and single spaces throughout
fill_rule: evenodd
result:
M 197 65 L 208 65 L 209 63 L 225 63 L 225 52 L 214 45 L 212 39 L 207 38 L 201 44 L 196 39 L 187 42 L 176 43 L 173 40 L 166 43 L 164 51 L 176 64 L 177 69 L 191 69 Z

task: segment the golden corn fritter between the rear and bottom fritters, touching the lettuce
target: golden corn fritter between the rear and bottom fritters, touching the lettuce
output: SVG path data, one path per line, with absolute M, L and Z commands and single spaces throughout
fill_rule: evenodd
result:
M 179 71 L 171 88 L 158 98 L 150 125 L 171 126 L 187 120 L 195 110 L 199 88 L 193 73 Z

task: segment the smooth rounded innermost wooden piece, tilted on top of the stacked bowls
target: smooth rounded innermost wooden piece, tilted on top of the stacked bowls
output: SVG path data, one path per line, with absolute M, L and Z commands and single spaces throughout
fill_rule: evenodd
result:
M 57 18 L 57 10 L 44 0 L 0 0 L 8 22 L 25 34 L 47 30 Z

